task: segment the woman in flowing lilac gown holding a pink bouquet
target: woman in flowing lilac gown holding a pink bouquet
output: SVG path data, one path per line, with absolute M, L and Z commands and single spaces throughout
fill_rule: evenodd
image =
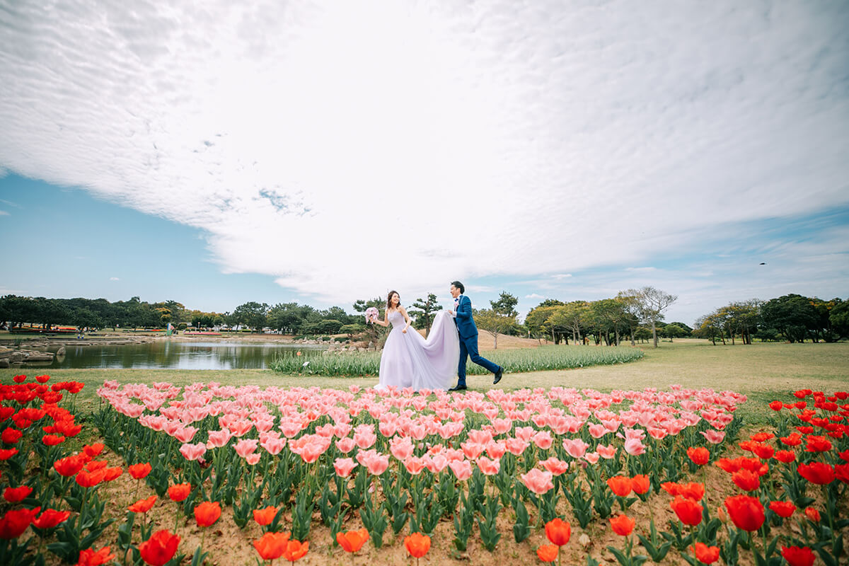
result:
M 430 335 L 424 339 L 415 329 L 409 330 L 410 320 L 401 305 L 401 295 L 390 291 L 386 297 L 384 319 L 371 322 L 392 331 L 386 337 L 380 355 L 380 383 L 374 389 L 398 388 L 448 389 L 457 375 L 460 341 L 457 326 L 447 311 L 438 311 Z

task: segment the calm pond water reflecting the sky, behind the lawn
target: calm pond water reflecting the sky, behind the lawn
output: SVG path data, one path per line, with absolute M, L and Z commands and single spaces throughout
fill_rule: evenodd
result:
M 322 350 L 321 346 L 273 342 L 157 340 L 149 344 L 65 346 L 65 356 L 54 358 L 53 363 L 31 365 L 75 369 L 266 369 L 278 356 L 296 356 L 300 351 L 306 360 Z

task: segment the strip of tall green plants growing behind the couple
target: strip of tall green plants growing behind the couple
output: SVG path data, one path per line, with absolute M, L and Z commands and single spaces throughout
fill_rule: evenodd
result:
M 612 346 L 543 346 L 534 349 L 487 351 L 485 357 L 503 366 L 507 373 L 521 373 L 625 363 L 643 357 L 643 350 Z M 281 356 L 272 361 L 269 367 L 277 372 L 307 375 L 376 375 L 380 369 L 380 352 L 325 354 L 312 356 L 306 361 Z M 466 373 L 475 375 L 487 372 L 483 367 L 469 361 L 466 364 Z

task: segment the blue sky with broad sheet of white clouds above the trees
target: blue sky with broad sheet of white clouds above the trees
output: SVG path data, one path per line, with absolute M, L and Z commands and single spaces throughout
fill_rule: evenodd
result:
M 28 4 L 0 294 L 849 298 L 849 3 Z

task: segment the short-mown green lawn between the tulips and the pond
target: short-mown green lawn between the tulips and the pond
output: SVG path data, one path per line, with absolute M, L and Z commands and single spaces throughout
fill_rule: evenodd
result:
M 593 348 L 593 346 L 587 346 Z M 571 370 L 505 374 L 498 386 L 502 389 L 525 387 L 575 387 L 600 391 L 611 389 L 668 389 L 671 384 L 686 388 L 710 387 L 732 389 L 750 398 L 740 413 L 751 422 L 763 422 L 768 401 L 789 401 L 787 394 L 796 389 L 849 389 L 849 344 L 755 344 L 713 346 L 696 339 L 662 342 L 654 349 L 644 346 L 645 356 L 614 366 L 584 367 Z M 529 350 L 532 351 L 532 350 Z M 0 380 L 9 384 L 18 373 L 45 373 L 38 368 L 3 369 Z M 259 385 L 266 387 L 302 386 L 347 388 L 349 385 L 369 387 L 377 377 L 333 378 L 283 374 L 272 370 L 151 370 L 151 369 L 57 369 L 49 372 L 53 381 L 82 381 L 86 388 L 78 396 L 83 409 L 98 406 L 95 389 L 106 379 L 119 383 L 167 381 L 177 385 L 215 381 L 221 384 Z M 491 376 L 471 375 L 469 389 L 486 391 L 492 387 Z

